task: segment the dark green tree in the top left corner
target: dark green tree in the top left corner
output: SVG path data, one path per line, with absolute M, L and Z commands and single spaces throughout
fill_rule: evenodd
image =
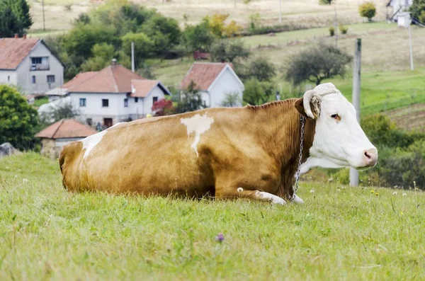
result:
M 26 33 L 33 19 L 26 0 L 0 0 L 0 38 Z

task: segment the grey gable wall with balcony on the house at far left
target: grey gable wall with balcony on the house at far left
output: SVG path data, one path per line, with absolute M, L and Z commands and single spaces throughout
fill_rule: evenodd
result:
M 30 70 L 31 57 L 49 57 L 49 70 Z M 17 84 L 26 93 L 45 93 L 64 84 L 64 67 L 41 42 L 23 59 L 16 72 Z M 48 84 L 47 75 L 55 75 L 55 83 Z M 32 76 L 35 76 L 35 84 L 32 83 Z

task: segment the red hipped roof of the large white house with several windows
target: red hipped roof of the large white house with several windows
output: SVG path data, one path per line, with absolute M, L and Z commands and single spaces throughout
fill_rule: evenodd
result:
M 122 65 L 110 65 L 67 89 L 69 93 L 131 93 L 131 81 L 139 79 L 144 78 Z

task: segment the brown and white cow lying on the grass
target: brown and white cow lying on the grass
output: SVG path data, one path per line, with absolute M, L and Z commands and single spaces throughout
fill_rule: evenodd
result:
M 284 205 L 314 166 L 363 169 L 378 151 L 333 84 L 302 98 L 145 118 L 72 142 L 60 153 L 67 190 L 250 198 Z

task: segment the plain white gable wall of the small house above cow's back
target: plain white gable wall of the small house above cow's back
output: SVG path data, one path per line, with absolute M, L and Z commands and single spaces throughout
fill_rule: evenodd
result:
M 243 86 L 237 81 L 232 72 L 229 69 L 226 69 L 215 81 L 215 84 L 210 88 L 211 95 L 211 105 L 210 107 L 216 108 L 220 107 L 222 101 L 225 99 L 226 93 L 239 93 L 239 96 L 242 99 L 242 94 L 244 93 Z M 242 105 L 242 103 L 240 104 Z

